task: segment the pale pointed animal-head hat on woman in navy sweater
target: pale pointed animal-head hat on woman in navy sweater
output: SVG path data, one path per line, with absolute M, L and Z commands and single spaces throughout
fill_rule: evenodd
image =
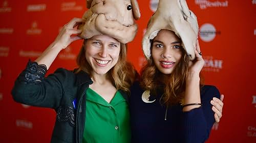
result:
M 185 0 L 159 0 L 157 10 L 147 24 L 142 49 L 147 60 L 151 57 L 151 42 L 162 29 L 173 31 L 182 40 L 182 47 L 195 59 L 194 48 L 198 38 L 196 15 L 187 7 Z

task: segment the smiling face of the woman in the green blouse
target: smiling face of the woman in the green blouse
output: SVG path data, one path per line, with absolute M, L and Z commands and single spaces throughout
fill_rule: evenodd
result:
M 121 43 L 106 35 L 97 35 L 87 39 L 86 60 L 92 68 L 92 74 L 104 75 L 118 62 Z

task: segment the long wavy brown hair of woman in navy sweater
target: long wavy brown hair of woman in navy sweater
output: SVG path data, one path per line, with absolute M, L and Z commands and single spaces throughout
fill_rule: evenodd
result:
M 181 60 L 172 74 L 161 73 L 157 69 L 152 56 L 141 69 L 141 87 L 144 90 L 150 90 L 154 96 L 161 96 L 160 102 L 166 106 L 183 103 L 186 85 L 185 79 L 189 69 L 189 55 L 186 54 L 184 48 L 181 49 Z M 200 86 L 202 86 L 204 82 L 201 77 L 202 75 L 200 74 Z

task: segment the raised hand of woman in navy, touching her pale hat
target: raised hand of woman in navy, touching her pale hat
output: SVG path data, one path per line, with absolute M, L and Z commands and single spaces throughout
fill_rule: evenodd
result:
M 196 42 L 196 49 L 194 49 L 196 58 L 194 61 L 189 62 L 189 71 L 190 73 L 200 73 L 204 66 L 204 59 L 200 50 L 199 42 Z

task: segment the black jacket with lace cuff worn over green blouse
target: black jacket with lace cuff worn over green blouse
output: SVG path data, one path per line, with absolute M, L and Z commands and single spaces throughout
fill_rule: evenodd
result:
M 12 89 L 16 102 L 53 108 L 56 113 L 51 142 L 82 142 L 86 91 L 93 81 L 87 73 L 59 68 L 44 78 L 46 67 L 29 62 Z M 127 95 L 122 92 L 127 99 Z

